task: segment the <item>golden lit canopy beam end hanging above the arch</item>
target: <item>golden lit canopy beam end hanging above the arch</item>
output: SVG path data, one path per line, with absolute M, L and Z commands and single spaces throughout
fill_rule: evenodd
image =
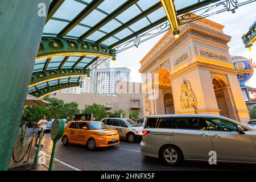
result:
M 179 20 L 177 19 L 174 0 L 161 0 L 161 2 L 164 10 L 166 11 L 168 20 L 171 24 L 172 34 L 178 35 L 180 33 Z M 176 36 L 175 38 L 178 38 L 178 36 Z

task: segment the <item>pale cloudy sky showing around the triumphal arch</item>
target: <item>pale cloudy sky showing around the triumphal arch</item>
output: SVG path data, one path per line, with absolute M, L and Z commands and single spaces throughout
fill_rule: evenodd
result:
M 255 7 L 256 2 L 239 7 L 234 14 L 226 11 L 224 13 L 208 17 L 208 19 L 224 25 L 224 33 L 232 36 L 232 40 L 228 44 L 230 47 L 230 55 L 244 56 L 248 59 L 251 58 L 254 62 L 256 62 L 256 45 L 252 47 L 253 51 L 248 51 L 242 43 L 241 34 L 242 32 L 247 32 L 251 24 L 256 20 Z M 141 82 L 141 74 L 138 71 L 141 67 L 139 61 L 142 60 L 147 52 L 150 51 L 150 49 L 160 40 L 160 38 L 162 38 L 163 35 L 164 34 L 147 40 L 140 44 L 138 48 L 133 47 L 118 53 L 117 60 L 114 62 L 111 61 L 110 67 L 127 67 L 131 69 L 131 81 Z M 256 88 L 256 73 L 253 75 L 253 78 L 251 78 L 250 84 Z

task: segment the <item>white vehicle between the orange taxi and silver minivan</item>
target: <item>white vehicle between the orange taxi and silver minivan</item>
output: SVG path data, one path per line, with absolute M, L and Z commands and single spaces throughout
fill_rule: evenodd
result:
M 129 142 L 142 139 L 143 126 L 127 118 L 104 118 L 101 122 L 109 129 L 117 130 L 120 138 L 126 138 Z

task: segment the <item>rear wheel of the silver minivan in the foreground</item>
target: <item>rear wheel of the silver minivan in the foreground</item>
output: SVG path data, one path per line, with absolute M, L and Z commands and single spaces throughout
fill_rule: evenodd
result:
M 169 166 L 176 166 L 180 164 L 183 159 L 181 151 L 175 146 L 164 146 L 161 148 L 159 155 L 160 159 Z

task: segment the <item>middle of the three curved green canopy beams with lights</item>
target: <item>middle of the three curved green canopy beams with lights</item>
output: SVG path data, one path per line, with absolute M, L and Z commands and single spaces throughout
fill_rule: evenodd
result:
M 77 68 L 64 68 L 64 69 L 52 69 L 47 71 L 34 72 L 30 81 L 28 88 L 48 82 L 51 80 L 56 80 L 58 78 L 65 77 L 76 77 L 76 76 L 90 76 L 90 69 L 77 69 Z

